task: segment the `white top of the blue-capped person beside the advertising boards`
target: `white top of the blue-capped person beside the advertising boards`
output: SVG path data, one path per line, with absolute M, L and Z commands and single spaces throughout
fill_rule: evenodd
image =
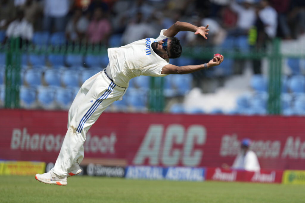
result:
M 245 156 L 239 153 L 232 165 L 233 169 L 257 171 L 260 170 L 260 164 L 258 163 L 255 152 L 248 150 Z

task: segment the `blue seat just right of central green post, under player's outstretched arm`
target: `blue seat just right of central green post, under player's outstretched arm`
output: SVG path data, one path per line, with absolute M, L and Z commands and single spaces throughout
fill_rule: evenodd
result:
M 177 95 L 183 96 L 192 89 L 193 76 L 192 74 L 173 75 L 172 82 L 177 91 Z

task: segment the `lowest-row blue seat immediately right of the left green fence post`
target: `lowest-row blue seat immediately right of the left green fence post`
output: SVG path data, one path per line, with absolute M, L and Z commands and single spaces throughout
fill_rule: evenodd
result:
M 20 87 L 20 106 L 23 108 L 31 108 L 36 103 L 36 89 L 31 87 Z

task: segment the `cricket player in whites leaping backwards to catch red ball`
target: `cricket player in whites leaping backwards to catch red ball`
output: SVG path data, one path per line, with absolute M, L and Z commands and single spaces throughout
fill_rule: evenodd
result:
M 161 30 L 156 39 L 146 38 L 109 48 L 107 67 L 84 82 L 71 104 L 68 131 L 54 168 L 36 174 L 35 178 L 47 184 L 66 185 L 67 177 L 81 172 L 79 164 L 84 158 L 86 133 L 110 104 L 122 99 L 130 79 L 140 75 L 186 74 L 219 65 L 223 61 L 222 55 L 201 65 L 179 67 L 169 64 L 169 58 L 178 58 L 182 53 L 180 42 L 174 37 L 178 32 L 191 31 L 207 39 L 208 26 L 176 22 L 167 30 Z

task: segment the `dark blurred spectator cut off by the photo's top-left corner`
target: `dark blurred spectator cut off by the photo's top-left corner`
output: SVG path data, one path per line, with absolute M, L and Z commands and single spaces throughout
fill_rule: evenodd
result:
M 16 8 L 10 0 L 0 0 L 0 30 L 6 30 L 9 23 L 16 19 Z

